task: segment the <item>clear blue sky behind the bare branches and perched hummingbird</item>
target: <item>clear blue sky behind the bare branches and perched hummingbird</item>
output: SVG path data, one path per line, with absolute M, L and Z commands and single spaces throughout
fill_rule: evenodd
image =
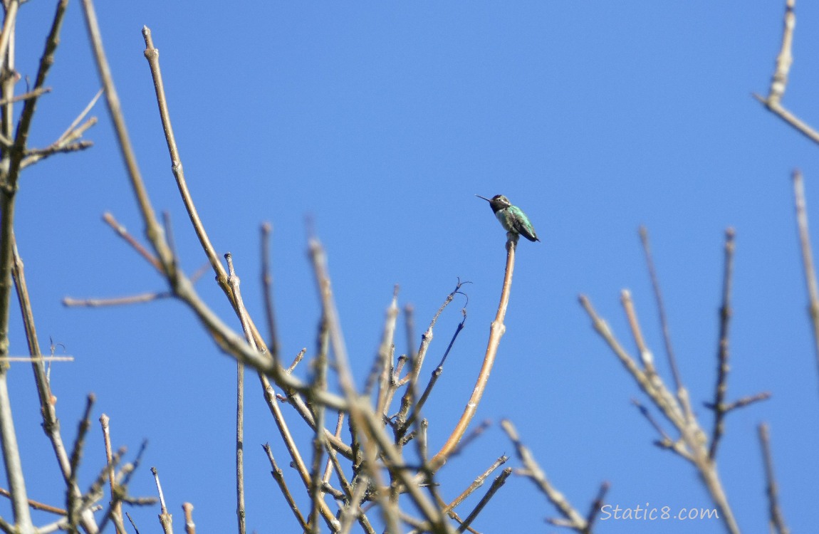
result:
M 242 2 L 225 9 L 206 1 L 192 10 L 146 1 L 101 2 L 97 11 L 143 175 L 156 208 L 170 212 L 183 268 L 192 272 L 205 258 L 170 173 L 143 25 L 161 51 L 193 198 L 216 249 L 233 253 L 245 301 L 259 317 L 259 226 L 273 224 L 285 357 L 312 351 L 319 318 L 305 217 L 328 251 L 362 382 L 394 284 L 400 305 L 414 305 L 420 333 L 457 279 L 471 282 L 466 328 L 428 408 L 433 444 L 446 438 L 472 390 L 503 276 L 504 232 L 474 194 L 503 193 L 527 211 L 542 242 L 519 247 L 507 331 L 476 418 L 493 425 L 441 472 L 450 499 L 497 456 L 514 452 L 496 424 L 509 418 L 578 509 L 604 480 L 612 505 L 711 507 L 693 469 L 651 444 L 654 430 L 631 405 L 643 397 L 590 328 L 577 295 L 589 296 L 633 351 L 619 306 L 620 290 L 631 289 L 670 380 L 637 237 L 645 224 L 681 374 L 710 428 L 702 402 L 713 396 L 722 240 L 734 227 L 728 396 L 771 391 L 772 398 L 729 416 L 718 463 L 740 527 L 761 532 L 767 501 L 758 423 L 771 426 L 781 505 L 794 531 L 812 527 L 800 505 L 813 497 L 806 481 L 819 476 L 817 369 L 790 183 L 791 171 L 802 169 L 808 210 L 819 213 L 819 152 L 751 97 L 767 93 L 781 3 Z M 36 72 L 50 4 L 20 11 L 24 76 Z M 819 123 L 811 115 L 819 10 L 808 2 L 797 8 L 785 106 Z M 33 146 L 57 138 L 99 87 L 79 4 L 69 10 Z M 84 396 L 94 391 L 94 417 L 111 417 L 116 445 L 135 451 L 149 441 L 132 493 L 155 493 L 147 467 L 156 466 L 178 529 L 179 506 L 191 501 L 201 532 L 230 532 L 233 361 L 174 301 L 61 305 L 64 296 L 165 289 L 101 222 L 111 211 L 141 237 L 105 107 L 94 113 L 95 146 L 26 170 L 17 204 L 41 342 L 52 337 L 76 358 L 52 369 L 63 432 L 74 437 Z M 202 278 L 199 291 L 238 328 L 211 280 Z M 464 304 L 456 299 L 441 317 L 430 361 L 446 348 Z M 396 344 L 405 351 L 403 333 Z M 11 347 L 25 351 L 16 315 Z M 61 504 L 30 371 L 15 366 L 10 376 L 30 496 Z M 251 375 L 247 387 L 249 531 L 296 532 L 260 445 L 269 441 L 282 459 L 285 452 Z M 101 462 L 95 429 L 86 483 Z M 6 504 L 0 510 L 8 516 Z M 156 509 L 131 513 L 142 532 L 158 528 Z M 512 477 L 475 527 L 554 532 L 542 520 L 555 515 L 530 482 Z M 722 524 L 609 520 L 599 532 L 708 533 Z

